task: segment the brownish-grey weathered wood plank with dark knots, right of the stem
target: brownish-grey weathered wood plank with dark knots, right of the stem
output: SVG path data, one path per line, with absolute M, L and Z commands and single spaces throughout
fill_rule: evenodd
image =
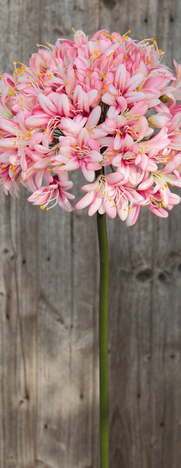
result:
M 181 59 L 181 6 L 176 13 L 167 1 L 100 4 L 101 27 L 154 36 L 168 66 Z M 180 464 L 180 219 L 179 206 L 166 223 L 145 211 L 131 230 L 109 221 L 112 468 Z

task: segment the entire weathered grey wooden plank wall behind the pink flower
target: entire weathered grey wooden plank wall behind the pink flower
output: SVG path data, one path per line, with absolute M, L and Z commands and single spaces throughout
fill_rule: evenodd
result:
M 180 0 L 0 0 L 0 73 L 72 26 L 131 28 L 181 60 Z M 0 468 L 98 468 L 96 217 L 21 189 L 0 194 Z M 180 468 L 181 205 L 108 231 L 110 468 Z

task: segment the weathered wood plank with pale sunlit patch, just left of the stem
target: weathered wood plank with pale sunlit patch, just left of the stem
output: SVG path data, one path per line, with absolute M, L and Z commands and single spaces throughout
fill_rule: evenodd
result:
M 89 33 L 92 25 L 87 28 L 87 15 L 92 6 L 47 2 L 42 9 L 42 43 L 70 37 L 71 26 Z M 97 1 L 94 8 L 96 13 Z M 72 177 L 79 196 L 83 177 L 80 173 Z M 87 220 L 86 213 L 52 210 L 50 217 L 46 214 L 41 216 L 39 237 L 39 283 L 47 300 L 42 307 L 41 298 L 38 307 L 37 401 L 42 401 L 37 413 L 36 456 L 54 468 L 85 468 L 91 466 L 95 222 Z M 45 232 L 49 233 L 46 237 Z M 57 324 L 52 317 L 52 304 L 63 323 Z

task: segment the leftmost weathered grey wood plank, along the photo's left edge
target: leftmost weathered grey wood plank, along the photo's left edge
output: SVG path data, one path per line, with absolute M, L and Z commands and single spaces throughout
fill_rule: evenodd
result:
M 35 4 L 35 2 L 34 2 Z M 36 2 L 39 5 L 39 2 Z M 28 61 L 39 14 L 28 2 L 0 4 L 0 71 Z M 38 212 L 1 190 L 0 466 L 34 467 L 36 430 L 36 291 Z

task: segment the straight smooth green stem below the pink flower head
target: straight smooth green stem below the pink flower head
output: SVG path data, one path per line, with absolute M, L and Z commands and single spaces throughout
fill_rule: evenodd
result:
M 106 214 L 97 212 L 97 233 L 100 256 L 99 286 L 99 379 L 100 379 L 100 468 L 109 467 L 108 430 L 108 294 L 109 253 Z

